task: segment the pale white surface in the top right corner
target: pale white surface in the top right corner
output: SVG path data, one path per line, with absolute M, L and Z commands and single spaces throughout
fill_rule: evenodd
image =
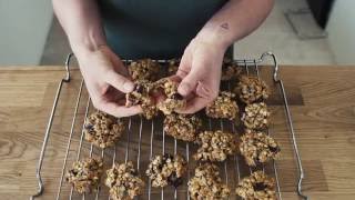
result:
M 336 62 L 355 64 L 355 1 L 335 0 L 326 29 Z

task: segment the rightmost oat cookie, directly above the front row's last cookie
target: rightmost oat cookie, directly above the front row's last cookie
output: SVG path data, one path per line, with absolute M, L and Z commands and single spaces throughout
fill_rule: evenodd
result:
M 246 132 L 241 137 L 241 154 L 248 166 L 265 163 L 280 156 L 280 147 L 276 141 L 264 132 Z

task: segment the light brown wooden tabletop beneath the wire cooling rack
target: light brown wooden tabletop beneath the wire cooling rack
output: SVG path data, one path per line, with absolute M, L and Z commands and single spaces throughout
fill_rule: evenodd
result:
M 263 71 L 270 76 L 270 69 L 263 68 Z M 58 83 L 63 76 L 63 67 L 0 68 L 0 199 L 28 199 L 38 190 L 36 164 Z M 304 193 L 312 199 L 354 199 L 355 67 L 282 66 L 280 77 L 288 92 L 305 171 Z M 55 112 L 42 168 L 44 193 L 39 199 L 54 199 L 58 192 L 79 84 L 79 70 L 73 70 L 72 81 L 63 84 Z M 87 97 L 84 91 L 82 98 Z M 271 104 L 274 116 L 271 131 L 283 149 L 282 158 L 276 161 L 282 199 L 297 199 L 297 169 L 285 112 L 280 99 L 272 99 Z M 75 159 L 84 111 L 83 100 L 74 126 L 69 164 Z M 142 143 L 149 146 L 144 137 L 149 138 L 150 126 L 144 124 L 143 129 Z M 156 146 L 154 148 L 160 148 Z M 124 142 L 118 144 L 118 149 L 124 147 Z M 83 143 L 85 148 L 88 150 L 89 146 Z M 183 152 L 185 146 L 178 148 Z M 170 151 L 172 147 L 166 149 Z M 83 150 L 82 154 L 85 153 Z M 100 156 L 100 150 L 94 149 L 93 153 Z M 130 159 L 135 160 L 136 153 L 133 150 Z M 105 158 L 110 156 L 108 152 Z M 142 149 L 141 157 L 148 159 L 149 150 Z M 118 160 L 124 160 L 123 156 L 119 154 Z M 141 163 L 141 168 L 145 168 L 144 164 Z M 237 181 L 236 173 L 229 174 L 230 182 Z M 61 194 L 61 199 L 67 199 L 67 183 L 62 190 L 67 193 Z

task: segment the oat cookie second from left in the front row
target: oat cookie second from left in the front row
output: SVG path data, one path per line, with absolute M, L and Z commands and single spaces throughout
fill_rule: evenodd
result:
M 133 163 L 114 164 L 106 171 L 105 184 L 110 188 L 110 197 L 113 200 L 128 200 L 142 193 L 143 180 L 138 177 Z

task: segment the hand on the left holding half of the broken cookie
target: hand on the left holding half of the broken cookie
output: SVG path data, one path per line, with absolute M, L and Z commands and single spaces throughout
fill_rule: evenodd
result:
M 97 109 L 119 118 L 141 112 L 139 106 L 124 106 L 124 93 L 131 92 L 134 84 L 120 58 L 109 47 L 77 51 L 75 57 Z

